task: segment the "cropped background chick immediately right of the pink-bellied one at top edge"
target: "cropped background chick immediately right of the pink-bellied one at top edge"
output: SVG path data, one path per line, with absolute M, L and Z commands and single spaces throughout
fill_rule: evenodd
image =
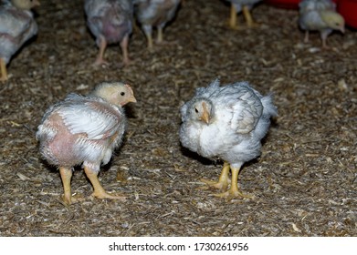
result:
M 181 0 L 134 0 L 134 12 L 152 48 L 152 26 L 157 27 L 157 42 L 163 42 L 163 27 L 173 19 Z

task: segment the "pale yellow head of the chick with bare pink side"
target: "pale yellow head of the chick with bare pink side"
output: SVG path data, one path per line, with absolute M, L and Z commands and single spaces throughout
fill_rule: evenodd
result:
M 104 82 L 97 86 L 91 96 L 101 97 L 110 104 L 124 106 L 129 102 L 135 103 L 136 98 L 131 87 L 122 82 Z

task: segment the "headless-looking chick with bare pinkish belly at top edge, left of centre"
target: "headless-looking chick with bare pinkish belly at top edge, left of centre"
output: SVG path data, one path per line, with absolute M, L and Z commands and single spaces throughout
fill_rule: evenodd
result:
M 96 37 L 100 52 L 95 66 L 108 64 L 104 52 L 108 44 L 120 43 L 123 64 L 129 64 L 129 36 L 132 31 L 132 0 L 85 0 L 84 9 L 87 25 Z

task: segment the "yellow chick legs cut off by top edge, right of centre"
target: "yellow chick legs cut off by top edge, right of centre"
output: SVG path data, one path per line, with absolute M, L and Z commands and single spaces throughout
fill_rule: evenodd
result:
M 253 21 L 252 15 L 250 15 L 250 9 L 253 8 L 253 5 L 257 4 L 257 2 L 261 0 L 227 0 L 231 2 L 231 14 L 229 19 L 229 26 L 233 29 L 239 29 L 236 21 L 236 14 L 239 12 L 243 12 L 243 15 L 247 22 L 247 27 L 257 26 L 257 24 Z

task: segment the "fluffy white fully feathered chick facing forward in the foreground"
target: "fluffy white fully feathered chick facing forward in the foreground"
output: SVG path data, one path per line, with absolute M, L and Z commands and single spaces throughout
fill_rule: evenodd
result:
M 239 191 L 237 179 L 243 164 L 260 155 L 261 142 L 277 108 L 270 96 L 263 97 L 247 82 L 220 87 L 216 79 L 200 87 L 194 97 L 181 107 L 180 140 L 185 148 L 205 158 L 222 158 L 224 167 L 217 182 L 205 183 L 224 193 L 219 197 L 250 198 Z M 228 188 L 229 169 L 232 172 Z

